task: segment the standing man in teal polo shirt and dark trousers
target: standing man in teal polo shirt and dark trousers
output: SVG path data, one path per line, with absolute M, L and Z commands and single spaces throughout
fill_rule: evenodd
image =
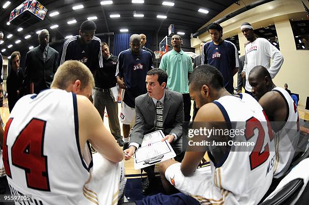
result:
M 191 99 L 189 95 L 189 78 L 193 71 L 192 60 L 181 50 L 181 37 L 172 36 L 173 50 L 162 56 L 159 68 L 165 71 L 169 78 L 167 87 L 183 95 L 184 120 L 190 121 Z

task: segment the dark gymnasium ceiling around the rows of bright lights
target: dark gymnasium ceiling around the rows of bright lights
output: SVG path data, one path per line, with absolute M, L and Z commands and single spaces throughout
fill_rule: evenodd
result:
M 210 21 L 213 17 L 228 8 L 236 0 L 144 0 L 143 4 L 133 4 L 132 0 L 113 0 L 111 5 L 101 5 L 100 2 L 106 0 L 39 0 L 48 11 L 43 21 L 38 20 L 34 15 L 28 17 L 17 17 L 10 25 L 10 13 L 24 0 L 9 0 L 11 4 L 3 8 L 7 2 L 0 0 L 0 31 L 4 32 L 3 43 L 0 45 L 0 51 L 3 55 L 10 55 L 14 50 L 28 49 L 29 46 L 36 46 L 37 34 L 43 28 L 46 28 L 50 34 L 50 43 L 61 42 L 69 35 L 77 35 L 80 24 L 88 17 L 97 17 L 93 20 L 96 23 L 96 33 L 114 32 L 120 33 L 120 29 L 128 29 L 129 33 L 158 33 L 165 36 L 168 33 L 170 24 L 175 25 L 175 32 L 184 32 L 186 38 L 191 33 L 197 31 L 202 25 Z M 172 2 L 174 6 L 164 6 L 164 1 Z M 83 5 L 84 8 L 73 10 L 72 7 Z M 199 9 L 208 10 L 208 14 L 198 12 Z M 59 15 L 50 17 L 53 12 L 59 12 Z M 29 13 L 29 12 L 24 12 Z M 23 15 L 24 15 L 23 13 Z M 144 17 L 133 17 L 133 14 L 143 14 Z M 29 13 L 30 14 L 30 13 Z M 110 15 L 120 14 L 120 18 L 111 18 Z M 157 15 L 167 16 L 166 19 L 159 19 Z M 30 19 L 29 19 L 30 18 Z M 76 20 L 75 24 L 68 24 L 68 21 Z M 51 26 L 58 25 L 55 29 Z M 17 31 L 18 28 L 22 31 Z M 7 38 L 9 34 L 13 36 Z M 25 36 L 31 37 L 25 39 Z M 21 42 L 16 43 L 16 41 Z M 8 48 L 9 45 L 13 45 Z M 6 49 L 5 51 L 3 51 Z

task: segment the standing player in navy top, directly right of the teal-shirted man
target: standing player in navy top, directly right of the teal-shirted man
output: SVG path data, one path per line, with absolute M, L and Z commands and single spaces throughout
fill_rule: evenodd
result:
M 212 38 L 203 45 L 201 64 L 210 64 L 222 73 L 224 87 L 233 93 L 233 76 L 239 67 L 238 51 L 234 43 L 222 39 L 223 28 L 218 23 L 208 25 L 208 32 Z

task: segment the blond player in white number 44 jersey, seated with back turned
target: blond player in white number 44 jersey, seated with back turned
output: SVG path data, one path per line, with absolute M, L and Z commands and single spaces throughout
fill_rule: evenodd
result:
M 52 89 L 16 103 L 3 145 L 13 195 L 30 194 L 30 204 L 117 203 L 123 152 L 87 99 L 93 86 L 88 67 L 69 60 Z M 98 152 L 93 156 L 89 142 Z

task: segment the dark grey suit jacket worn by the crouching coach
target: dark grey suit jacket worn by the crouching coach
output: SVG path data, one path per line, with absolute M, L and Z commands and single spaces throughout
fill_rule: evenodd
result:
M 144 134 L 155 131 L 157 123 L 157 110 L 152 98 L 148 93 L 135 98 L 135 125 L 130 138 L 130 143 L 141 145 Z M 182 94 L 170 90 L 165 90 L 163 104 L 163 132 L 165 135 L 175 133 L 178 136 L 177 144 L 182 143 L 182 122 L 184 121 Z M 179 145 L 181 146 L 181 145 Z M 174 148 L 174 147 L 173 147 Z M 175 150 L 175 149 L 174 149 Z M 181 150 L 175 150 L 176 154 Z

